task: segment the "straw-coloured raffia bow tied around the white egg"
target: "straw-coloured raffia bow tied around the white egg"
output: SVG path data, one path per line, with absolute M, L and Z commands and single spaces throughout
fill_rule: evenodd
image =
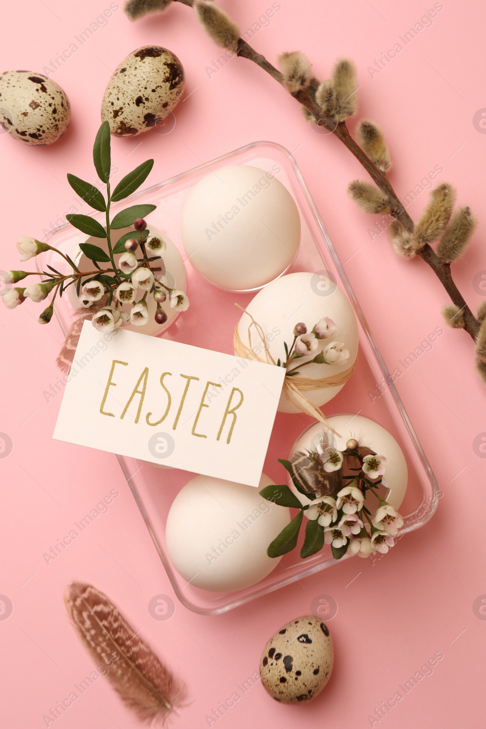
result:
M 277 363 L 275 362 L 275 359 L 273 359 L 273 356 L 270 354 L 270 351 L 267 347 L 267 342 L 265 340 L 262 327 L 258 324 L 257 321 L 254 320 L 253 316 L 251 316 L 251 313 L 246 311 L 246 309 L 243 309 L 243 307 L 239 304 L 235 304 L 235 306 L 238 306 L 241 311 L 248 314 L 251 319 L 251 324 L 248 326 L 248 342 L 250 344 L 249 347 L 246 346 L 246 344 L 240 337 L 240 332 L 238 331 L 239 322 L 235 327 L 234 346 L 236 354 L 240 357 L 244 357 L 245 359 L 255 359 L 256 362 L 263 362 L 264 364 L 275 364 L 275 367 L 277 367 Z M 264 346 L 264 358 L 256 354 L 251 348 L 251 327 L 255 327 L 260 340 L 262 340 Z M 286 375 L 286 378 L 283 381 L 283 392 L 286 399 L 291 402 L 291 404 L 294 405 L 296 408 L 299 408 L 302 413 L 310 415 L 312 418 L 315 418 L 321 423 L 324 423 L 327 428 L 332 430 L 333 433 L 340 437 L 340 434 L 337 433 L 334 428 L 329 425 L 326 420 L 326 416 L 324 415 L 324 413 L 322 413 L 320 408 L 316 408 L 315 405 L 313 405 L 313 403 L 310 402 L 310 400 L 308 400 L 307 397 L 302 394 L 302 392 L 324 389 L 326 387 L 339 387 L 340 385 L 344 385 L 346 382 L 348 382 L 350 376 L 353 374 L 354 368 L 356 367 L 356 362 L 357 359 L 351 365 L 351 367 L 348 367 L 348 370 L 344 370 L 344 372 L 338 373 L 337 375 L 328 375 L 327 377 L 321 377 L 317 379 L 311 377 L 303 377 L 302 375 L 292 375 L 291 377 L 289 377 L 289 375 Z

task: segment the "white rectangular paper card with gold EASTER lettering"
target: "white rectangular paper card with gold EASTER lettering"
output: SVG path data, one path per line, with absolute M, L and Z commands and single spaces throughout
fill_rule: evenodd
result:
M 285 370 L 85 321 L 54 438 L 258 486 Z

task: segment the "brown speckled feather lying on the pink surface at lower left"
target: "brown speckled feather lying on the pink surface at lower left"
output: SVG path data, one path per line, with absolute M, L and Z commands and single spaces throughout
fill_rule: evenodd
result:
M 73 582 L 64 601 L 79 639 L 138 719 L 164 723 L 184 700 L 185 687 L 173 677 L 119 609 L 93 585 Z M 119 658 L 115 658 L 119 655 Z

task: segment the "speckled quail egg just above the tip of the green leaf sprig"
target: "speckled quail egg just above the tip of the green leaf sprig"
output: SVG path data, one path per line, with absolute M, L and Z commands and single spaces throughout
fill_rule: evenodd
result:
M 165 119 L 184 90 L 184 69 L 170 50 L 143 46 L 119 64 L 101 103 L 114 136 L 136 136 Z

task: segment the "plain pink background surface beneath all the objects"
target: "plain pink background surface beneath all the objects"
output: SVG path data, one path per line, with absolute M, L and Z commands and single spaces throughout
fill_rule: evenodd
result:
M 224 2 L 245 31 L 271 2 L 248 0 L 239 6 Z M 300 48 L 320 77 L 329 74 L 337 55 L 352 56 L 361 85 L 360 114 L 383 125 L 394 160 L 391 181 L 399 195 L 406 195 L 440 165 L 444 171 L 439 179 L 455 184 L 458 203 L 480 214 L 486 137 L 473 125 L 473 117 L 486 106 L 486 9 L 471 1 L 444 2 L 433 25 L 385 69 L 373 78 L 367 71 L 433 6 L 418 0 L 406 5 L 385 0 L 281 0 L 281 10 L 270 26 L 257 32 L 253 45 L 270 61 L 281 50 Z M 48 0 L 23 6 L 20 20 L 18 4 L 7 4 L 3 69 L 42 72 L 106 7 L 108 0 Z M 441 326 L 440 307 L 447 303 L 442 286 L 420 260 L 397 257 L 385 233 L 371 240 L 368 229 L 375 220 L 361 214 L 346 195 L 350 179 L 366 179 L 361 167 L 336 139 L 319 136 L 305 125 L 297 104 L 270 77 L 239 59 L 208 77 L 205 67 L 216 58 L 216 48 L 187 7 L 176 5 L 161 17 L 134 24 L 120 8 L 107 27 L 52 75 L 72 107 L 71 125 L 58 144 L 23 147 L 8 135 L 0 137 L 1 268 L 19 267 L 17 235 L 42 238 L 76 203 L 67 171 L 94 182 L 90 149 L 103 90 L 122 58 L 148 43 L 165 45 L 179 56 L 187 74 L 187 101 L 176 108 L 176 126 L 168 135 L 151 132 L 112 141 L 119 178 L 154 157 L 149 177 L 154 184 L 256 139 L 295 150 L 393 372 L 399 359 Z M 414 219 L 426 199 L 424 192 L 409 207 Z M 471 308 L 482 300 L 474 277 L 486 269 L 480 252 L 484 231 L 481 220 L 469 249 L 454 266 L 455 280 Z M 444 494 L 428 525 L 404 537 L 375 563 L 346 561 L 227 615 L 202 617 L 176 604 L 171 620 L 157 621 L 147 609 L 150 599 L 173 592 L 114 456 L 86 451 L 84 472 L 74 471 L 70 459 L 75 447 L 51 440 L 60 397 L 47 403 L 43 391 L 58 376 L 55 356 L 62 334 L 57 322 L 40 327 L 39 307 L 28 302 L 14 312 L 2 308 L 0 316 L 0 432 L 14 444 L 12 453 L 0 459 L 0 593 L 13 603 L 9 619 L 0 620 L 1 685 L 9 697 L 3 706 L 5 725 L 45 726 L 43 715 L 93 670 L 63 606 L 63 588 L 74 578 L 105 591 L 160 657 L 186 679 L 189 705 L 173 720 L 174 726 L 207 726 L 205 716 L 213 707 L 258 670 L 267 639 L 283 623 L 310 612 L 311 601 L 323 593 L 338 605 L 329 622 L 334 673 L 324 693 L 306 706 L 283 706 L 258 683 L 218 725 L 369 726 L 368 715 L 436 652 L 444 658 L 434 673 L 380 725 L 484 725 L 486 624 L 478 619 L 473 603 L 486 593 L 484 539 L 477 516 L 484 504 L 486 461 L 473 442 L 486 432 L 485 389 L 474 373 L 466 333 L 447 329 L 434 349 L 420 356 L 396 383 Z M 112 488 L 120 496 L 109 512 L 47 566 L 43 553 Z M 102 678 L 59 721 L 73 729 L 129 728 L 137 723 Z

